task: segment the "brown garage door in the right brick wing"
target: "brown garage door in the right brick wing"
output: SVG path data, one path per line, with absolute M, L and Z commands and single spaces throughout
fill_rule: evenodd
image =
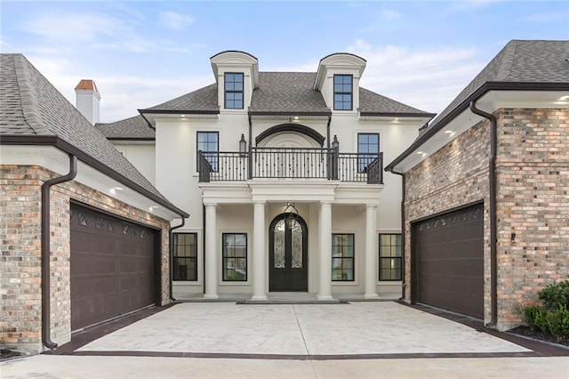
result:
M 417 302 L 484 319 L 484 212 L 470 206 L 413 223 Z

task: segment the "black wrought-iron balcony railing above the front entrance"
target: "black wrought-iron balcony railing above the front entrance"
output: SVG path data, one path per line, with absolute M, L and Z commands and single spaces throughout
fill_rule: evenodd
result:
M 248 152 L 198 152 L 199 181 L 326 179 L 383 182 L 383 154 L 335 149 L 251 148 Z

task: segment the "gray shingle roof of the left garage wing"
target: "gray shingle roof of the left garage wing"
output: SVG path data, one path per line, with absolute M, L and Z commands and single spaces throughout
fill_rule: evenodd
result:
M 188 217 L 164 198 L 22 54 L 0 54 L 0 74 L 0 143 L 41 142 L 66 149 L 85 164 L 104 170 L 146 198 Z

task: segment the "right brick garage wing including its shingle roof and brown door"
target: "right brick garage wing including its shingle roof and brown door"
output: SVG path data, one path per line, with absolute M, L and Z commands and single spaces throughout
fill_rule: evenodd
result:
M 569 278 L 569 41 L 506 44 L 386 170 L 405 183 L 405 300 L 519 325 Z

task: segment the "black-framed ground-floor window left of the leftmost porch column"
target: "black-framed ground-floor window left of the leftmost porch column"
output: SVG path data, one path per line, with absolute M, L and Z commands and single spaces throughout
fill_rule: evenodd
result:
M 172 280 L 197 280 L 197 233 L 173 233 Z

